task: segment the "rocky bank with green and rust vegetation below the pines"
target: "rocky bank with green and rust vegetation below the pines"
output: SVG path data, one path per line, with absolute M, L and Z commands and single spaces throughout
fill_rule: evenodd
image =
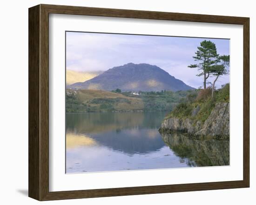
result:
M 229 83 L 215 90 L 189 94 L 163 120 L 160 133 L 229 138 Z

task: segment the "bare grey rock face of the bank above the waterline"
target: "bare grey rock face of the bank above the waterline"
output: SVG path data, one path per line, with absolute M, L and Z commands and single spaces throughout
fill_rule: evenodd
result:
M 182 132 L 190 135 L 229 137 L 229 102 L 218 102 L 207 120 L 193 120 L 200 111 L 198 106 L 192 111 L 191 118 L 179 119 L 170 117 L 162 122 L 160 132 Z

